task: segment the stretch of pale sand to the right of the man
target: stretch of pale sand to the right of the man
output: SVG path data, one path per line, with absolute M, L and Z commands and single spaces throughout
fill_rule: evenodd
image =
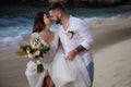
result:
M 94 87 L 131 87 L 131 18 L 93 21 Z

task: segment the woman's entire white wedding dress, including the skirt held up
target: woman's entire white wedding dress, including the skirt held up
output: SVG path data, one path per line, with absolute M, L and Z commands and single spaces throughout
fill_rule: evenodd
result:
M 38 37 L 37 33 L 33 35 Z M 55 35 L 50 45 L 51 50 L 43 59 L 44 73 L 37 73 L 37 65 L 33 61 L 27 63 L 25 75 L 31 87 L 41 87 L 44 77 L 48 74 L 56 87 L 91 87 L 90 76 L 82 58 L 76 55 L 73 61 L 67 60 L 61 48 L 57 51 L 58 39 L 58 36 Z M 46 44 L 44 40 L 43 42 Z

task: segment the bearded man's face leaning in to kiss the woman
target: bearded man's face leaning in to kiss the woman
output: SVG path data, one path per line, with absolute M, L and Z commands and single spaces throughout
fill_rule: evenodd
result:
M 56 24 L 61 23 L 60 13 L 58 11 L 49 11 L 50 18 L 56 22 Z

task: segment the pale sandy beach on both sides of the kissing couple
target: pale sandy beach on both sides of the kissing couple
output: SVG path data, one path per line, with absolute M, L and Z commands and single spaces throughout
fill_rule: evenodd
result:
M 91 21 L 94 87 L 131 87 L 131 17 Z M 25 58 L 16 47 L 0 50 L 0 87 L 29 87 Z

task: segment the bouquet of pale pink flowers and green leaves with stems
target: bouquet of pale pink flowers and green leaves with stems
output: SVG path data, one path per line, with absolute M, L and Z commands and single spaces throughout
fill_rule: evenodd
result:
M 44 58 L 44 54 L 46 54 L 49 50 L 50 47 L 41 44 L 40 38 L 37 37 L 32 42 L 21 45 L 20 49 L 16 51 L 16 54 L 25 55 L 29 59 L 37 59 L 37 73 L 43 73 L 44 66 L 40 62 L 40 59 Z

